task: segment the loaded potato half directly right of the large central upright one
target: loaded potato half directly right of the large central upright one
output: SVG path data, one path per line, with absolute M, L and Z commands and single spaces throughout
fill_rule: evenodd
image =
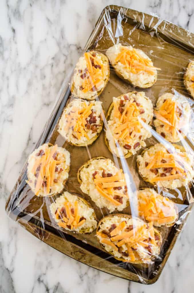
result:
M 156 131 L 169 142 L 179 142 L 189 131 L 190 105 L 185 97 L 165 93 L 156 103 Z

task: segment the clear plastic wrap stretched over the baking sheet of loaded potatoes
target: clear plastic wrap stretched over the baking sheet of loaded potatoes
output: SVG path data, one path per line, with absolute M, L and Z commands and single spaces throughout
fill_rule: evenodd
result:
M 8 215 L 87 265 L 155 282 L 193 205 L 193 40 L 156 16 L 106 7 Z

